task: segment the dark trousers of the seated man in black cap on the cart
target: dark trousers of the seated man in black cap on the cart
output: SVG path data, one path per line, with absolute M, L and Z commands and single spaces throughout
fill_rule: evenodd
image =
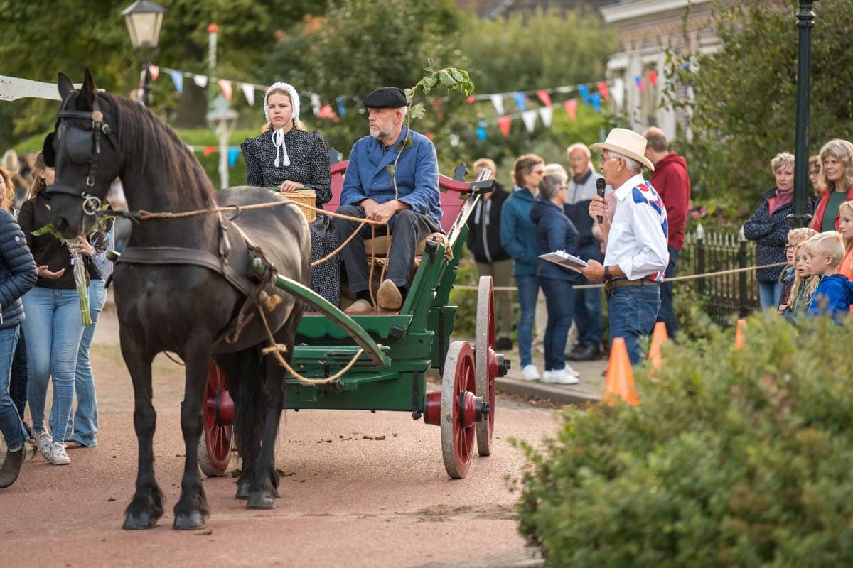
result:
M 365 218 L 364 209 L 359 205 L 343 205 L 338 208 L 337 212 L 341 215 Z M 358 227 L 358 221 L 336 218 L 334 230 L 338 242 L 343 243 L 347 238 L 350 238 L 356 227 Z M 427 215 L 415 213 L 411 209 L 403 209 L 391 218 L 388 229 L 391 232 L 391 250 L 388 251 L 386 278 L 389 278 L 398 287 L 408 288 L 409 278 L 415 267 L 415 247 L 433 232 L 440 232 L 441 228 L 437 227 Z M 349 281 L 350 290 L 353 292 L 363 292 L 368 289 L 370 268 L 364 250 L 364 239 L 370 238 L 370 234 L 370 226 L 365 225 L 357 236 L 344 247 L 344 250 L 340 251 L 340 255 L 344 257 L 346 278 Z M 385 234 L 386 227 L 375 227 L 377 237 Z

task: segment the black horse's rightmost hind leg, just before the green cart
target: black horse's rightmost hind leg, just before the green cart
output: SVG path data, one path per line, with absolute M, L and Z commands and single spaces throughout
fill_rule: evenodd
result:
M 281 330 L 276 333 L 276 341 L 287 346 L 284 358 L 287 363 L 293 359 L 293 341 L 296 328 L 302 318 L 303 305 L 297 301 L 293 312 Z M 278 424 L 281 421 L 281 410 L 284 407 L 285 371 L 270 355 L 266 360 L 266 413 L 264 416 L 264 438 L 261 441 L 261 451 L 255 464 L 252 483 L 249 485 L 249 500 L 246 504 L 250 509 L 276 508 L 278 496 L 278 473 L 276 473 L 276 436 Z

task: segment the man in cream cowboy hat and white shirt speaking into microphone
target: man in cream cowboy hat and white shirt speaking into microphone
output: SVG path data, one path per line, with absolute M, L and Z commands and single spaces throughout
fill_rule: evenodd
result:
M 651 333 L 660 307 L 660 283 L 670 261 L 666 247 L 666 209 L 658 192 L 642 177 L 642 167 L 654 171 L 646 158 L 646 139 L 628 129 L 612 129 L 601 150 L 601 174 L 614 188 L 616 209 L 607 214 L 603 198 L 595 196 L 589 215 L 601 220 L 606 243 L 604 264 L 590 260 L 583 276 L 592 282 L 604 280 L 610 313 L 610 341 L 623 337 L 631 364 L 642 354 L 638 340 Z M 618 314 L 618 318 L 614 317 Z

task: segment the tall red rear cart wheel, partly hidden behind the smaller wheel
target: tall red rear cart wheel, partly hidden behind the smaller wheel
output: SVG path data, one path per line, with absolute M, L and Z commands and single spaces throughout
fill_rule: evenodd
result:
M 477 292 L 477 328 L 475 361 L 477 394 L 489 403 L 489 419 L 477 422 L 477 451 L 491 453 L 495 435 L 495 377 L 498 375 L 495 353 L 495 289 L 490 276 L 481 276 Z

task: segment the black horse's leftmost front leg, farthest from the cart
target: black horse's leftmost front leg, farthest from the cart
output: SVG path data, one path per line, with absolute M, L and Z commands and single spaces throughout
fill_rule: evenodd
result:
M 133 427 L 139 446 L 136 469 L 136 493 L 125 509 L 125 530 L 153 529 L 163 516 L 163 492 L 154 479 L 154 429 L 157 412 L 151 403 L 151 361 L 153 357 L 142 352 L 142 347 L 127 326 L 120 334 L 121 353 L 133 381 Z

